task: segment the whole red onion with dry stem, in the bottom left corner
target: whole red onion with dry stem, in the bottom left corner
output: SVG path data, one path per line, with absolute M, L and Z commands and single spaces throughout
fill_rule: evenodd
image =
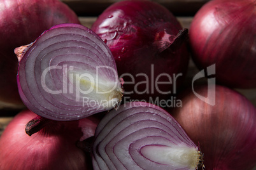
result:
M 96 119 L 52 121 L 28 136 L 25 125 L 35 116 L 29 110 L 20 112 L 4 130 L 0 138 L 0 169 L 89 169 L 90 159 L 76 147 L 76 142 L 94 136 Z

